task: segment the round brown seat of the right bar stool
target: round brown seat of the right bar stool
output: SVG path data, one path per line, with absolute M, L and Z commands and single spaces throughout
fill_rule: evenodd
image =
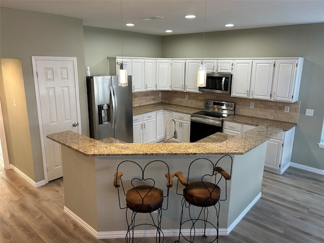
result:
M 191 182 L 183 189 L 184 198 L 197 207 L 210 207 L 217 203 L 221 194 L 219 186 L 211 182 Z

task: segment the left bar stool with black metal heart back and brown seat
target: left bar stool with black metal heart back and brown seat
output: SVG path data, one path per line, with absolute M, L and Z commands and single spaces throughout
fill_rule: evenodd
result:
M 123 166 L 123 169 L 129 174 L 132 174 L 130 179 L 125 178 L 124 183 L 121 179 L 121 176 L 123 176 L 124 173 L 120 171 L 122 165 L 127 166 Z M 135 168 L 131 165 L 134 165 Z M 155 173 L 151 173 L 151 175 L 146 176 L 146 170 L 150 170 L 152 172 L 154 167 L 158 168 L 155 170 Z M 140 175 L 134 177 L 136 168 L 139 169 Z M 164 173 L 161 171 L 164 171 Z M 157 187 L 157 185 L 162 181 L 161 178 L 163 176 L 167 178 L 165 190 L 161 190 Z M 128 225 L 125 237 L 126 242 L 134 242 L 134 229 L 141 225 L 150 225 L 155 227 L 155 241 L 163 242 L 164 234 L 161 230 L 162 210 L 168 209 L 169 189 L 173 186 L 173 174 L 170 173 L 169 166 L 162 160 L 153 160 L 142 168 L 134 161 L 125 160 L 117 166 L 116 173 L 114 174 L 113 185 L 118 190 L 119 208 L 126 209 L 126 221 Z M 125 201 L 122 197 L 125 197 Z M 164 204 L 165 199 L 166 203 Z M 131 211 L 131 216 L 128 214 L 129 210 Z M 157 211 L 157 214 L 153 217 L 152 212 L 155 211 Z M 136 224 L 135 217 L 137 213 L 149 214 L 149 218 L 151 219 L 152 223 Z

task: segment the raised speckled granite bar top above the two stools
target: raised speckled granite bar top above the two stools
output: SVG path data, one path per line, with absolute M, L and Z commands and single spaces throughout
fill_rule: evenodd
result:
M 106 143 L 107 140 L 94 140 L 72 131 L 49 134 L 47 137 L 86 156 L 235 155 L 245 154 L 280 131 L 278 128 L 258 126 L 213 143 Z

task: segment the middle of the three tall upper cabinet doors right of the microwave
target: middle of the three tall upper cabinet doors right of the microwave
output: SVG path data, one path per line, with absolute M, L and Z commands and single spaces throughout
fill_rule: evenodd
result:
M 251 98 L 270 100 L 274 61 L 254 61 Z

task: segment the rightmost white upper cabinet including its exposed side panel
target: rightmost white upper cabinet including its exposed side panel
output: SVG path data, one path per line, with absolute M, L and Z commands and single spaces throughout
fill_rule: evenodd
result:
M 274 68 L 272 100 L 298 100 L 304 58 L 277 60 Z

